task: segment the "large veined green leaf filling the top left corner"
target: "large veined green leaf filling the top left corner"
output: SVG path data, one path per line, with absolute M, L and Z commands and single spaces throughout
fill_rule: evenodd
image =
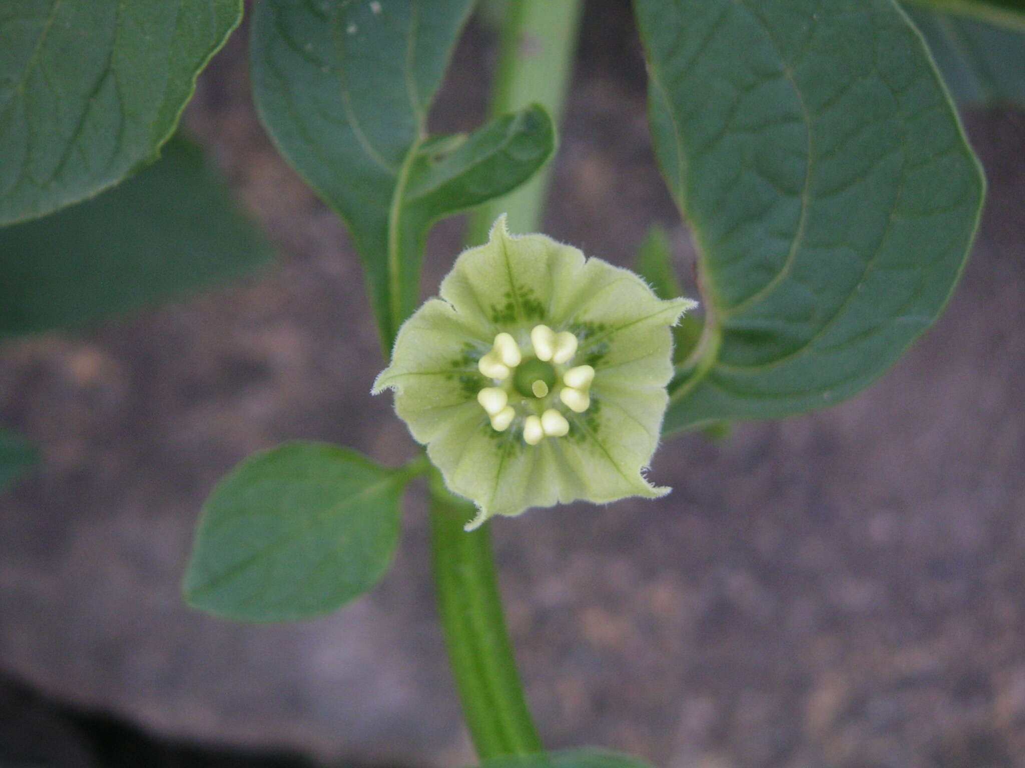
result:
M 6 0 L 0 225 L 89 198 L 158 157 L 241 0 Z

